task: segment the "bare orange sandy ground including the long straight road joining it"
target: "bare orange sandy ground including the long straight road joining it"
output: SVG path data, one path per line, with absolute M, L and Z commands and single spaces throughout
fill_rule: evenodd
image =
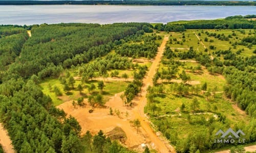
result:
M 135 97 L 133 100 L 133 107 L 123 106 L 122 99 L 120 98 L 121 93 L 117 93 L 115 96 L 110 98 L 104 108 L 95 108 L 93 113 L 89 113 L 90 106 L 87 101 L 84 101 L 86 106 L 79 107 L 77 109 L 73 107 L 72 101 L 63 103 L 57 108 L 63 109 L 68 115 L 72 115 L 77 119 L 82 127 L 81 134 L 86 133 L 87 130 L 94 134 L 99 130 L 102 130 L 104 133 L 108 133 L 113 130 L 115 126 L 119 126 L 126 134 L 127 140 L 124 144 L 129 148 L 143 151 L 140 145 L 145 143 L 159 152 L 175 152 L 174 148 L 168 144 L 166 139 L 156 135 L 156 132 L 154 132 L 151 127 L 150 121 L 148 121 L 144 114 L 144 106 L 146 105 L 146 88 L 148 85 L 153 85 L 152 78 L 154 77 L 156 69 L 161 61 L 167 41 L 168 36 L 165 36 L 150 70 L 143 80 L 142 90 L 139 96 Z M 111 80 L 111 78 L 109 79 Z M 117 81 L 117 79 L 114 80 Z M 113 109 L 113 112 L 115 112 L 115 110 L 119 110 L 120 116 L 110 115 L 110 107 Z M 129 114 L 128 117 L 125 115 L 126 112 Z M 141 122 L 138 134 L 135 127 L 132 127 L 129 122 L 133 119 L 139 119 Z

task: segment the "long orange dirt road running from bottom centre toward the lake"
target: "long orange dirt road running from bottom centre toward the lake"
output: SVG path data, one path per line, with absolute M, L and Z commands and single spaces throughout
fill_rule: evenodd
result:
M 158 48 L 158 54 L 155 58 L 155 61 L 150 67 L 146 77 L 143 79 L 143 86 L 141 88 L 140 96 L 135 97 L 134 103 L 137 105 L 136 108 L 133 110 L 136 118 L 138 118 L 141 122 L 142 129 L 146 132 L 147 137 L 150 138 L 152 142 L 152 147 L 158 150 L 159 152 L 175 152 L 175 149 L 169 145 L 168 141 L 160 138 L 156 135 L 153 131 L 152 127 L 150 126 L 150 121 L 148 121 L 146 115 L 144 114 L 144 107 L 146 105 L 146 89 L 148 86 L 153 86 L 152 78 L 156 73 L 156 69 L 158 68 L 161 58 L 163 56 L 165 44 L 168 41 L 168 36 L 164 37 L 161 46 Z

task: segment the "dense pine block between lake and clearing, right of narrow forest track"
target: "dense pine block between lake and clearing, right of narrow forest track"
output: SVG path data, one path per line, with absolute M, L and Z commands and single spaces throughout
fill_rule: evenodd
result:
M 45 78 L 71 65 L 87 63 L 110 52 L 113 42 L 135 34 L 147 23 L 40 25 L 32 29 L 31 39 L 23 46 L 20 58 L 9 73 L 24 78 L 38 74 Z M 147 24 L 150 25 L 150 24 Z M 70 62 L 73 59 L 75 62 Z

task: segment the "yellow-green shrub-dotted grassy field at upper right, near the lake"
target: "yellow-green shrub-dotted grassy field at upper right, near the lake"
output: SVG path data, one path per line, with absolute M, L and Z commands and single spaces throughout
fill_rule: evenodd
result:
M 186 22 L 186 21 L 178 21 L 178 22 Z M 234 54 L 237 54 L 238 50 L 242 50 L 240 53 L 241 56 L 243 57 L 249 57 L 254 55 L 252 52 L 253 50 L 256 49 L 256 45 L 252 45 L 251 48 L 248 48 L 247 46 L 244 45 L 235 45 L 232 46 L 234 43 L 239 43 L 244 37 L 247 36 L 255 36 L 255 30 L 242 30 L 240 32 L 239 30 L 186 30 L 183 33 L 170 33 L 169 39 L 172 39 L 172 43 L 170 41 L 168 42 L 167 46 L 173 47 L 173 48 L 189 48 L 192 46 L 194 50 L 196 50 L 198 53 L 204 52 L 205 48 L 203 45 L 200 43 L 194 32 L 198 35 L 198 37 L 202 40 L 206 48 L 208 49 L 208 52 L 212 54 L 213 57 L 217 57 L 216 54 L 214 54 L 218 50 L 228 50 L 231 49 L 231 52 Z M 217 35 L 224 34 L 225 37 L 230 37 L 228 38 L 227 41 L 225 40 L 219 40 L 218 38 L 215 38 L 214 36 L 207 36 L 206 32 L 208 33 L 216 33 Z M 200 34 L 199 34 L 200 33 Z M 234 33 L 234 34 L 233 34 Z M 229 36 L 230 35 L 230 36 Z M 235 36 L 233 36 L 235 35 Z M 205 38 L 208 40 L 205 41 Z M 174 41 L 174 39 L 176 39 Z M 210 42 L 210 40 L 212 42 Z M 210 46 L 215 46 L 215 49 L 210 49 Z M 173 49 L 175 50 L 175 49 Z M 184 52 L 186 49 L 176 49 L 176 53 L 179 52 Z M 221 57 L 223 59 L 223 57 Z

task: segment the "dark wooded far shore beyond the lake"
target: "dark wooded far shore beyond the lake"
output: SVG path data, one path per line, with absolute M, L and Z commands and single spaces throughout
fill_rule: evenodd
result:
M 256 1 L 0 1 L 0 5 L 156 5 L 256 6 Z

